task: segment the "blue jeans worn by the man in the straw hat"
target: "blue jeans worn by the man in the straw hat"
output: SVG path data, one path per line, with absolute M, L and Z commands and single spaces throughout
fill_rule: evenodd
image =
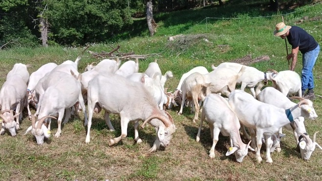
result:
M 320 52 L 320 45 L 318 45 L 314 50 L 302 54 L 302 90 L 314 88 L 313 80 L 313 66 L 318 58 Z

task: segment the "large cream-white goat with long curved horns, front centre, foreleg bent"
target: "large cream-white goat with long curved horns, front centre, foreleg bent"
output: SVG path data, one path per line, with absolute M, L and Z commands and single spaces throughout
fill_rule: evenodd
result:
M 134 122 L 135 141 L 141 142 L 138 135 L 140 120 L 144 120 L 142 127 L 149 122 L 157 132 L 157 139 L 149 152 L 156 151 L 160 145 L 169 145 L 176 129 L 172 117 L 166 111 L 158 108 L 143 85 L 116 74 L 111 74 L 108 77 L 98 75 L 89 82 L 87 97 L 88 125 L 86 143 L 90 141 L 93 112 L 99 113 L 103 108 L 106 122 L 109 121 L 109 114 L 120 114 L 121 116 L 122 134 L 120 137 L 108 141 L 109 145 L 114 145 L 127 136 L 129 121 Z M 86 124 L 87 121 L 85 122 Z

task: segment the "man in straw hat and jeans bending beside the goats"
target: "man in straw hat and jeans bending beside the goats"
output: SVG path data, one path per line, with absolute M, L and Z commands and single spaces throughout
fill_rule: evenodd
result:
M 274 36 L 282 39 L 287 38 L 292 45 L 292 53 L 287 55 L 287 60 L 292 58 L 291 70 L 294 71 L 296 62 L 298 61 L 298 51 L 302 53 L 302 97 L 314 100 L 314 79 L 312 69 L 320 52 L 320 45 L 305 30 L 298 26 L 286 26 L 283 22 L 276 25 Z M 305 90 L 308 89 L 306 95 Z

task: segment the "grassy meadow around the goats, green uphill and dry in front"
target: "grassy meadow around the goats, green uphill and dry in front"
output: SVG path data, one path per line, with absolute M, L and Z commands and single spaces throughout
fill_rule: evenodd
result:
M 228 1 L 229 2 L 229 1 Z M 273 36 L 275 25 L 281 17 L 255 19 L 208 19 L 205 17 L 247 18 L 276 15 L 267 11 L 269 1 L 242 1 L 235 4 L 213 6 L 200 9 L 184 10 L 172 13 L 156 14 L 157 32 L 149 37 L 145 19 L 136 19 L 133 29 L 123 32 L 106 43 L 91 43 L 88 50 L 94 52 L 111 51 L 109 46 L 120 45 L 122 53 L 135 52 L 138 55 L 158 54 L 146 60 L 139 60 L 139 72 L 144 72 L 149 63 L 158 60 L 162 73 L 168 70 L 174 77 L 166 82 L 169 91 L 176 88 L 182 74 L 193 67 L 205 66 L 211 71 L 211 64 L 236 60 L 251 54 L 252 58 L 267 55 L 269 61 L 251 64 L 258 70 L 287 70 L 285 42 Z M 240 4 L 239 4 L 240 3 Z M 289 13 L 301 8 L 282 10 L 278 13 Z M 309 18 L 322 16 L 322 4 L 306 8 L 285 17 L 288 25 L 297 25 L 309 32 L 321 45 L 321 20 L 298 24 L 304 16 Z M 202 21 L 204 20 L 204 21 Z M 202 21 L 202 22 L 201 22 Z M 201 22 L 201 23 L 200 23 Z M 184 40 L 168 41 L 169 36 L 177 34 L 190 35 Z M 207 39 L 207 41 L 203 40 Z M 228 45 L 220 47 L 218 45 Z M 14 63 L 31 63 L 31 74 L 48 62 L 62 63 L 75 60 L 84 46 L 48 48 L 12 48 L 0 51 L 0 85 Z M 291 46 L 288 45 L 291 52 Z M 301 53 L 299 52 L 296 72 L 301 74 Z M 83 72 L 87 63 L 102 59 L 93 58 L 88 52 L 82 56 L 79 72 Z M 124 60 L 125 61 L 125 60 Z M 316 61 L 314 70 L 316 94 L 322 95 L 322 53 Z M 271 86 L 271 83 L 268 84 Z M 237 89 L 240 86 L 237 86 Z M 107 87 L 108 88 L 108 87 Z M 246 88 L 247 92 L 250 92 Z M 312 135 L 322 129 L 322 100 L 314 101 L 318 119 L 306 119 L 307 133 Z M 35 138 L 29 133 L 22 134 L 31 125 L 27 110 L 23 111 L 21 130 L 16 137 L 6 133 L 0 136 L 0 180 L 3 181 L 130 181 L 130 180 L 163 180 L 163 181 L 319 181 L 322 180 L 322 150 L 318 147 L 309 161 L 303 161 L 296 152 L 296 143 L 292 132 L 284 130 L 286 137 L 281 139 L 281 152 L 271 154 L 273 163 L 265 162 L 266 150 L 262 146 L 263 161 L 257 163 L 255 153 L 249 152 L 242 163 L 237 163 L 234 154 L 225 156 L 229 148 L 228 137 L 219 136 L 215 147 L 215 158 L 208 157 L 212 139 L 207 123 L 203 124 L 200 142 L 195 141 L 199 123 L 193 123 L 190 108 L 185 107 L 183 115 L 176 114 L 179 107 L 169 110 L 178 128 L 171 144 L 166 149 L 152 154 L 144 152 L 150 149 L 155 138 L 151 126 L 139 129 L 142 143 L 134 142 L 134 127 L 128 126 L 128 136 L 115 146 L 108 146 L 108 140 L 121 134 L 120 116 L 112 115 L 111 123 L 114 132 L 108 130 L 103 112 L 94 114 L 91 126 L 91 142 L 86 144 L 86 127 L 84 115 L 72 116 L 62 126 L 62 135 L 54 138 L 57 121 L 51 123 L 52 135 L 43 145 L 38 146 Z M 32 113 L 36 110 L 32 109 Z M 199 118 L 200 119 L 200 118 Z M 241 134 L 244 143 L 248 141 Z M 317 142 L 322 145 L 322 133 L 318 133 Z

